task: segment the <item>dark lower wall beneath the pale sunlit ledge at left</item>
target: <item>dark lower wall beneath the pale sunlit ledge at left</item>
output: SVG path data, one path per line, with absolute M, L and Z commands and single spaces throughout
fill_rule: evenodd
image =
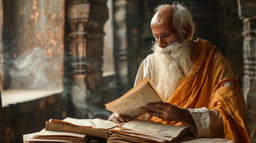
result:
M 35 92 L 34 96 L 36 95 Z M 45 121 L 65 119 L 67 107 L 67 99 L 62 94 L 0 107 L 4 143 L 21 143 L 23 134 L 39 132 L 45 128 Z

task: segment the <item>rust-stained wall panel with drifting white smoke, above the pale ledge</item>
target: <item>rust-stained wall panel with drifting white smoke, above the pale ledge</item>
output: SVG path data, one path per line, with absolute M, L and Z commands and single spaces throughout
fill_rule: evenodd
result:
M 63 88 L 64 0 L 4 0 L 4 7 L 5 89 Z

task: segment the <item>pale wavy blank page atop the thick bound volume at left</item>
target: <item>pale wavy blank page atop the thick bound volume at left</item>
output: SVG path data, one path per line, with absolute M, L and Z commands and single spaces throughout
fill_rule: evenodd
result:
M 112 121 L 107 121 L 107 120 L 103 120 L 103 119 L 73 119 L 73 118 L 69 118 L 69 117 L 67 117 L 63 121 L 65 121 L 67 123 L 71 123 L 73 125 L 92 127 L 95 129 L 106 129 L 106 130 L 108 130 L 110 128 L 114 128 L 117 125 L 123 124 L 123 123 L 116 124 Z

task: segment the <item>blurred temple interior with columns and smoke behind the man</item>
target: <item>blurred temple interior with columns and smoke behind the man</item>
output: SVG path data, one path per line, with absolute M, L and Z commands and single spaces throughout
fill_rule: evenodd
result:
M 256 0 L 178 0 L 194 39 L 234 68 L 256 138 Z M 101 118 L 151 53 L 150 21 L 173 0 L 0 0 L 0 142 L 20 143 L 49 119 Z

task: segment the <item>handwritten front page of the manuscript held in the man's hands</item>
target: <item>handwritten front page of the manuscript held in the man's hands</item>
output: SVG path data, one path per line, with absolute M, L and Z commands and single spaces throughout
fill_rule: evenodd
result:
M 132 92 L 132 94 L 127 95 L 126 98 L 122 98 L 121 100 L 115 102 L 111 106 L 107 107 L 107 109 L 135 119 L 142 113 L 145 113 L 145 111 L 142 112 L 139 108 L 146 107 L 148 103 L 153 102 L 163 101 L 148 83 L 144 88 L 141 88 L 136 92 Z

